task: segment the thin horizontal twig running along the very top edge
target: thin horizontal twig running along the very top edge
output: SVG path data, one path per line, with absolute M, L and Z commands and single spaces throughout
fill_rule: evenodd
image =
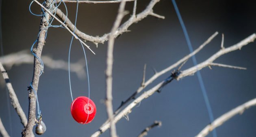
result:
M 131 2 L 135 0 L 125 0 L 126 2 Z M 56 0 L 56 3 L 61 2 L 61 0 Z M 89 3 L 89 4 L 104 4 L 104 3 L 120 3 L 121 0 L 108 0 L 108 1 L 92 1 L 92 0 L 62 0 L 65 3 Z

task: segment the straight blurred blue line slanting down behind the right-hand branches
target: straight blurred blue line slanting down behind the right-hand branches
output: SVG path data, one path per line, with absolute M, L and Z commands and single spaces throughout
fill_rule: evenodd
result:
M 187 44 L 189 46 L 189 51 L 190 53 L 193 52 L 193 48 L 192 48 L 192 45 L 191 45 L 191 42 L 190 42 L 190 39 L 189 39 L 189 34 L 187 33 L 187 30 L 186 30 L 186 27 L 184 25 L 184 22 L 182 20 L 182 17 L 180 15 L 180 12 L 179 12 L 179 9 L 178 9 L 178 6 L 175 2 L 175 0 L 171 0 L 172 3 L 174 4 L 174 8 L 175 8 L 175 11 L 177 13 L 177 16 L 178 16 L 178 19 L 180 21 L 180 25 L 182 27 L 182 30 L 184 32 L 184 35 L 185 35 L 185 38 L 186 38 L 186 41 L 187 41 Z M 196 58 L 195 58 L 195 55 L 192 56 L 192 60 L 193 60 L 193 64 L 194 65 L 197 65 L 197 61 L 196 61 Z M 208 111 L 208 115 L 209 115 L 209 118 L 210 118 L 210 122 L 213 122 L 214 118 L 213 118 L 213 112 L 212 112 L 212 109 L 210 107 L 210 101 L 208 99 L 208 95 L 207 95 L 207 92 L 206 92 L 206 89 L 205 89 L 205 86 L 204 86 L 204 82 L 203 82 L 203 79 L 202 79 L 202 76 L 201 76 L 201 73 L 200 71 L 198 70 L 196 72 L 197 74 L 197 78 L 199 80 L 199 83 L 200 83 L 200 87 L 201 87 L 201 90 L 202 90 L 202 93 L 203 93 L 203 96 L 204 96 L 204 101 L 206 103 L 206 107 L 207 107 L 207 111 Z M 213 130 L 213 137 L 217 137 L 217 132 L 216 130 L 214 129 Z

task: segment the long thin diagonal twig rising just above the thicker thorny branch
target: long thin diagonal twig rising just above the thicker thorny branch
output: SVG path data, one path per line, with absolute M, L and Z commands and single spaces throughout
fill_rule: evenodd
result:
M 200 45 L 195 51 L 193 51 L 192 53 L 190 53 L 189 55 L 183 57 L 182 59 L 180 59 L 179 61 L 177 61 L 176 63 L 174 63 L 173 65 L 165 68 L 164 70 L 160 71 L 160 72 L 156 72 L 155 74 L 149 79 L 147 80 L 143 86 L 140 86 L 137 91 L 135 93 L 133 93 L 130 97 L 128 97 L 128 99 L 126 99 L 125 101 L 122 101 L 121 105 L 117 108 L 117 110 L 115 111 L 115 114 L 117 114 L 119 112 L 119 110 L 121 109 L 121 107 L 123 107 L 126 103 L 128 103 L 130 100 L 135 99 L 135 96 L 137 94 L 139 94 L 143 89 L 145 89 L 146 86 L 148 86 L 150 83 L 152 83 L 156 78 L 158 78 L 159 76 L 165 74 L 166 72 L 169 72 L 170 70 L 173 70 L 175 67 L 177 67 L 178 65 L 180 65 L 181 63 L 184 63 L 184 61 L 187 61 L 190 57 L 192 57 L 193 55 L 195 55 L 196 53 L 198 53 L 202 48 L 204 48 L 204 46 L 206 46 L 206 44 L 208 44 L 209 42 L 211 42 L 213 40 L 213 38 L 215 38 L 215 36 L 217 36 L 218 32 L 215 32 L 212 36 L 210 36 L 202 45 Z

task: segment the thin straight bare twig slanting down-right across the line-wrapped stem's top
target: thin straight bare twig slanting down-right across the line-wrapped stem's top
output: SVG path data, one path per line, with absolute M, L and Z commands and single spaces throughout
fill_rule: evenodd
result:
M 85 42 L 83 42 L 82 40 L 80 40 L 80 38 L 78 38 L 76 36 L 76 34 L 74 34 L 70 29 L 69 27 L 67 27 L 67 25 L 65 25 L 65 23 L 63 23 L 62 21 L 60 21 L 57 17 L 55 17 L 46 7 L 44 7 L 41 3 L 39 3 L 37 0 L 34 0 L 34 2 L 36 2 L 39 6 L 41 6 L 47 13 L 49 13 L 54 19 L 56 19 L 56 21 L 58 21 L 59 23 L 61 23 L 73 36 L 74 38 L 76 38 L 77 40 L 79 40 L 83 45 L 85 45 L 89 51 L 91 51 L 94 55 L 95 53 L 91 50 L 91 48 L 85 44 Z

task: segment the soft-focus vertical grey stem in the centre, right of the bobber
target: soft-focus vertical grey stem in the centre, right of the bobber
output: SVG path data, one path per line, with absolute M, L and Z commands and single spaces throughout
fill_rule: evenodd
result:
M 111 29 L 111 33 L 109 35 L 108 40 L 108 48 L 107 48 L 107 56 L 106 56 L 106 111 L 108 114 L 108 119 L 110 121 L 110 136 L 117 137 L 117 131 L 115 128 L 115 123 L 113 122 L 114 114 L 113 114 L 113 105 L 112 105 L 112 72 L 113 72 L 113 49 L 115 42 L 115 32 L 117 31 L 118 26 L 120 25 L 123 17 L 126 15 L 124 12 L 126 2 L 124 0 L 121 1 L 117 18 L 115 23 Z

